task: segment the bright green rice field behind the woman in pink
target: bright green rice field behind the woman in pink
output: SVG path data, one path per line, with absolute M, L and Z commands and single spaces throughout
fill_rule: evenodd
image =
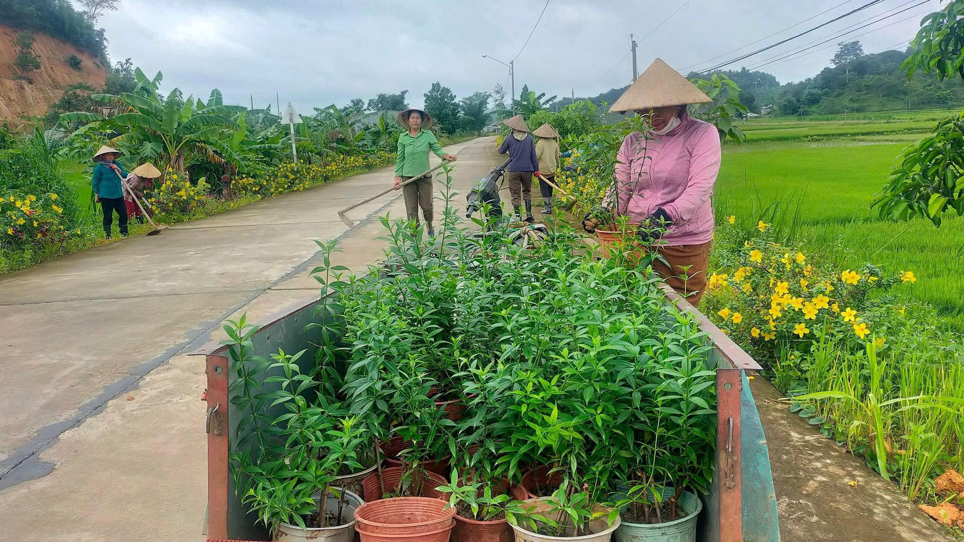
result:
M 816 122 L 792 129 L 827 127 Z M 906 134 L 900 143 L 858 141 L 853 136 L 865 132 L 846 132 L 844 126 L 834 133 L 842 139 L 815 143 L 798 137 L 725 147 L 717 216 L 735 214 L 755 225 L 768 213 L 774 228 L 841 265 L 870 262 L 888 271 L 911 270 L 919 281 L 897 288 L 898 295 L 929 303 L 952 328 L 964 331 L 964 218 L 946 220 L 940 229 L 923 220 L 877 219 L 870 203 L 911 141 Z

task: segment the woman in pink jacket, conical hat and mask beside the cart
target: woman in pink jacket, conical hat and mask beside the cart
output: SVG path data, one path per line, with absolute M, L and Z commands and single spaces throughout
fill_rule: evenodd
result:
M 707 285 L 713 209 L 710 197 L 720 167 L 720 137 L 709 122 L 691 118 L 686 106 L 712 100 L 660 59 L 629 86 L 609 111 L 652 115 L 649 133 L 633 132 L 616 156 L 615 194 L 605 206 L 642 231 L 661 227 L 650 243 L 669 265 L 653 269 L 693 306 Z M 583 224 L 597 223 L 587 216 Z

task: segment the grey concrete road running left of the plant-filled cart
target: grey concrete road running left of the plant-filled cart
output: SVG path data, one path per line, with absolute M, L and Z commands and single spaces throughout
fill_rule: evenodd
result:
M 448 151 L 461 207 L 501 160 L 494 138 Z M 352 176 L 0 278 L 4 539 L 201 540 L 205 381 L 187 354 L 229 317 L 264 322 L 317 297 L 312 239 L 340 239 L 351 269 L 382 257 L 376 218 L 404 217 L 401 193 L 352 211 L 352 230 L 336 211 L 390 179 Z

